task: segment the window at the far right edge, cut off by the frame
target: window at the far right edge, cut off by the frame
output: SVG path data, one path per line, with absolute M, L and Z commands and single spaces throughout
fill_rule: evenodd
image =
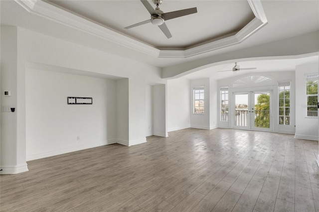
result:
M 306 76 L 307 116 L 318 116 L 318 74 Z

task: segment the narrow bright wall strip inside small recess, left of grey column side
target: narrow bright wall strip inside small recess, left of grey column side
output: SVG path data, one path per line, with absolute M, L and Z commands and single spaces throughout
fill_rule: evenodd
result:
M 145 106 L 145 116 L 146 116 L 146 136 L 153 135 L 153 86 L 146 85 L 145 89 L 146 96 L 146 106 Z

